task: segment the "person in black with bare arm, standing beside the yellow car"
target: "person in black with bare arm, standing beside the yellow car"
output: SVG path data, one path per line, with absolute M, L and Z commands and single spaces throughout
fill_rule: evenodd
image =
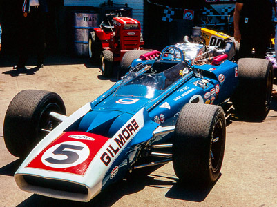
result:
M 273 33 L 274 0 L 237 0 L 233 13 L 235 40 L 240 43 L 239 57 L 265 58 Z

